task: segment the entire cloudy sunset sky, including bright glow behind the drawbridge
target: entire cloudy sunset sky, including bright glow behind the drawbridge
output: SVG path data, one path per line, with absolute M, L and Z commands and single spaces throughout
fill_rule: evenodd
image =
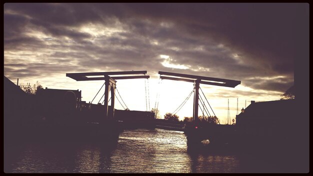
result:
M 3 9 L 4 76 L 79 89 L 86 102 L 103 81 L 66 73 L 147 70 L 148 80 L 116 86 L 130 110 L 158 104 L 161 115 L 173 112 L 193 84 L 160 81 L 158 71 L 240 80 L 234 88 L 200 84 L 221 123 L 228 100 L 232 119 L 237 98 L 240 111 L 251 100 L 280 99 L 294 82 L 298 3 L 5 3 Z M 180 119 L 192 116 L 192 96 L 177 112 Z M 115 108 L 123 109 L 116 100 Z

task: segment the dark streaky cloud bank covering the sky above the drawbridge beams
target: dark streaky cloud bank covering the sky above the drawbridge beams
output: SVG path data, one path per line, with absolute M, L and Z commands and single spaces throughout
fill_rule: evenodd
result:
M 163 70 L 284 91 L 293 82 L 299 9 L 297 3 L 6 3 L 4 73 Z M 164 66 L 160 54 L 188 69 Z M 249 79 L 281 75 L 288 80 Z

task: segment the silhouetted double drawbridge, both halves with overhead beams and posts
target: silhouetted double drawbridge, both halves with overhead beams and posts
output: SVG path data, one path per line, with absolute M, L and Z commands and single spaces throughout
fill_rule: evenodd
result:
M 149 76 L 145 75 L 146 73 L 147 73 L 146 70 L 143 70 L 143 71 L 80 72 L 80 73 L 66 73 L 66 76 L 73 78 L 77 81 L 87 81 L 87 80 L 104 80 L 105 81 L 104 82 L 104 84 L 105 84 L 104 100 L 103 100 L 103 102 L 104 102 L 104 114 L 103 114 L 103 118 L 100 121 L 100 123 L 104 124 L 104 123 L 110 123 L 110 121 L 114 120 L 114 102 L 115 102 L 116 79 L 134 79 L 134 78 L 146 78 L 146 79 L 148 79 Z M 193 85 L 194 85 L 194 87 L 193 87 L 193 92 L 194 92 L 194 94 L 193 94 L 193 113 L 192 113 L 192 121 L 193 122 L 189 125 L 185 125 L 182 127 L 181 125 L 177 125 L 177 124 L 175 125 L 173 123 L 164 123 L 164 122 L 160 122 L 160 121 L 155 120 L 155 127 L 156 128 L 161 127 L 161 128 L 172 129 L 172 130 L 184 131 L 185 134 L 187 135 L 187 140 L 190 142 L 198 142 L 198 141 L 201 141 L 202 139 L 205 139 L 208 137 L 212 141 L 220 141 L 220 139 L 225 138 L 222 135 L 225 133 L 225 131 L 227 131 L 226 133 L 231 133 L 231 131 L 230 132 L 228 132 L 228 131 L 230 129 L 232 129 L 232 127 L 228 127 L 228 125 L 216 125 L 216 124 L 214 124 L 214 125 L 201 125 L 199 123 L 199 118 L 198 118 L 198 108 L 200 107 L 199 101 L 203 107 L 203 109 L 201 109 L 201 111 L 203 113 L 204 113 L 204 111 L 206 113 L 208 113 L 208 109 L 205 106 L 204 100 L 201 98 L 201 96 L 199 96 L 199 89 L 200 89 L 200 83 L 201 84 L 215 85 L 215 86 L 235 87 L 236 85 L 240 84 L 239 80 L 231 80 L 231 79 L 223 79 L 223 78 L 207 77 L 207 76 L 199 76 L 199 75 L 191 75 L 191 74 L 181 74 L 181 73 L 165 72 L 165 71 L 159 71 L 158 73 L 160 74 L 160 79 L 186 81 L 186 82 L 192 82 L 193 83 Z M 127 74 L 144 74 L 144 75 L 124 76 Z M 123 76 L 116 76 L 116 75 L 123 75 Z M 92 76 L 92 77 L 90 77 L 90 76 Z M 110 106 L 108 105 L 109 92 L 111 93 Z M 189 97 L 190 97 L 191 93 L 189 94 Z M 203 91 L 202 91 L 202 93 L 203 93 Z M 204 93 L 203 93 L 203 95 L 204 95 Z M 199 99 L 199 97 L 200 97 L 200 99 Z M 205 97 L 205 99 L 206 99 L 206 97 Z M 182 105 L 183 104 L 184 103 L 182 103 Z M 180 105 L 180 108 L 182 107 L 182 105 Z M 204 107 L 206 107 L 206 108 L 204 108 Z M 215 113 L 214 113 L 214 115 L 215 115 Z M 218 123 L 219 123 L 219 121 L 218 121 Z M 218 137 L 216 137 L 217 135 L 218 135 Z

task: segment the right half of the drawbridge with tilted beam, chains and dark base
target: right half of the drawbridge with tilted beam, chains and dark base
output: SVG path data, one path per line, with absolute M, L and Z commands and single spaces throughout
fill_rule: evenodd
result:
M 186 126 L 184 129 L 184 133 L 187 135 L 188 143 L 198 143 L 203 139 L 208 139 L 210 142 L 214 143 L 225 143 L 230 140 L 231 133 L 233 133 L 234 126 L 231 125 L 221 125 L 221 124 L 201 124 L 198 118 L 198 108 L 201 109 L 204 117 L 204 112 L 209 113 L 208 109 L 205 108 L 204 100 L 201 98 L 199 90 L 201 90 L 203 96 L 205 97 L 201 87 L 201 84 L 208 84 L 214 86 L 224 86 L 224 87 L 235 87 L 241 83 L 239 80 L 231 80 L 231 79 L 223 79 L 223 78 L 216 78 L 216 77 L 207 77 L 207 76 L 199 76 L 199 75 L 192 75 L 192 74 L 181 74 L 181 73 L 174 73 L 174 72 L 165 72 L 159 71 L 160 79 L 169 79 L 169 80 L 177 80 L 177 81 L 186 81 L 193 83 L 193 111 L 192 111 L 192 123 L 191 125 Z M 192 93 L 192 92 L 191 92 Z M 188 95 L 186 100 L 189 98 L 191 93 Z M 205 97 L 206 99 L 206 97 Z M 200 104 L 199 104 L 200 101 Z M 207 101 L 207 99 L 206 99 Z M 182 103 L 182 105 L 184 104 Z M 207 101 L 208 103 L 208 101 Z M 201 106 L 200 106 L 201 105 Z M 209 103 L 208 103 L 209 105 Z M 181 108 L 182 106 L 180 106 Z M 209 105 L 211 108 L 211 106 Z M 212 108 L 211 108 L 212 110 Z M 213 110 L 212 110 L 213 111 Z M 177 111 L 176 111 L 177 112 Z M 214 113 L 214 112 L 213 112 Z M 217 122 L 218 118 L 214 113 L 213 116 Z

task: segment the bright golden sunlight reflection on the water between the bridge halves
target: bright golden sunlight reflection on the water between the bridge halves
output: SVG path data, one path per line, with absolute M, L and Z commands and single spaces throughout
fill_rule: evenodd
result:
M 115 163 L 113 171 L 125 172 L 126 168 L 126 172 L 188 172 L 185 167 L 188 156 L 182 154 L 186 146 L 183 136 L 180 131 L 125 131 L 114 155 L 123 157 L 125 165 Z

